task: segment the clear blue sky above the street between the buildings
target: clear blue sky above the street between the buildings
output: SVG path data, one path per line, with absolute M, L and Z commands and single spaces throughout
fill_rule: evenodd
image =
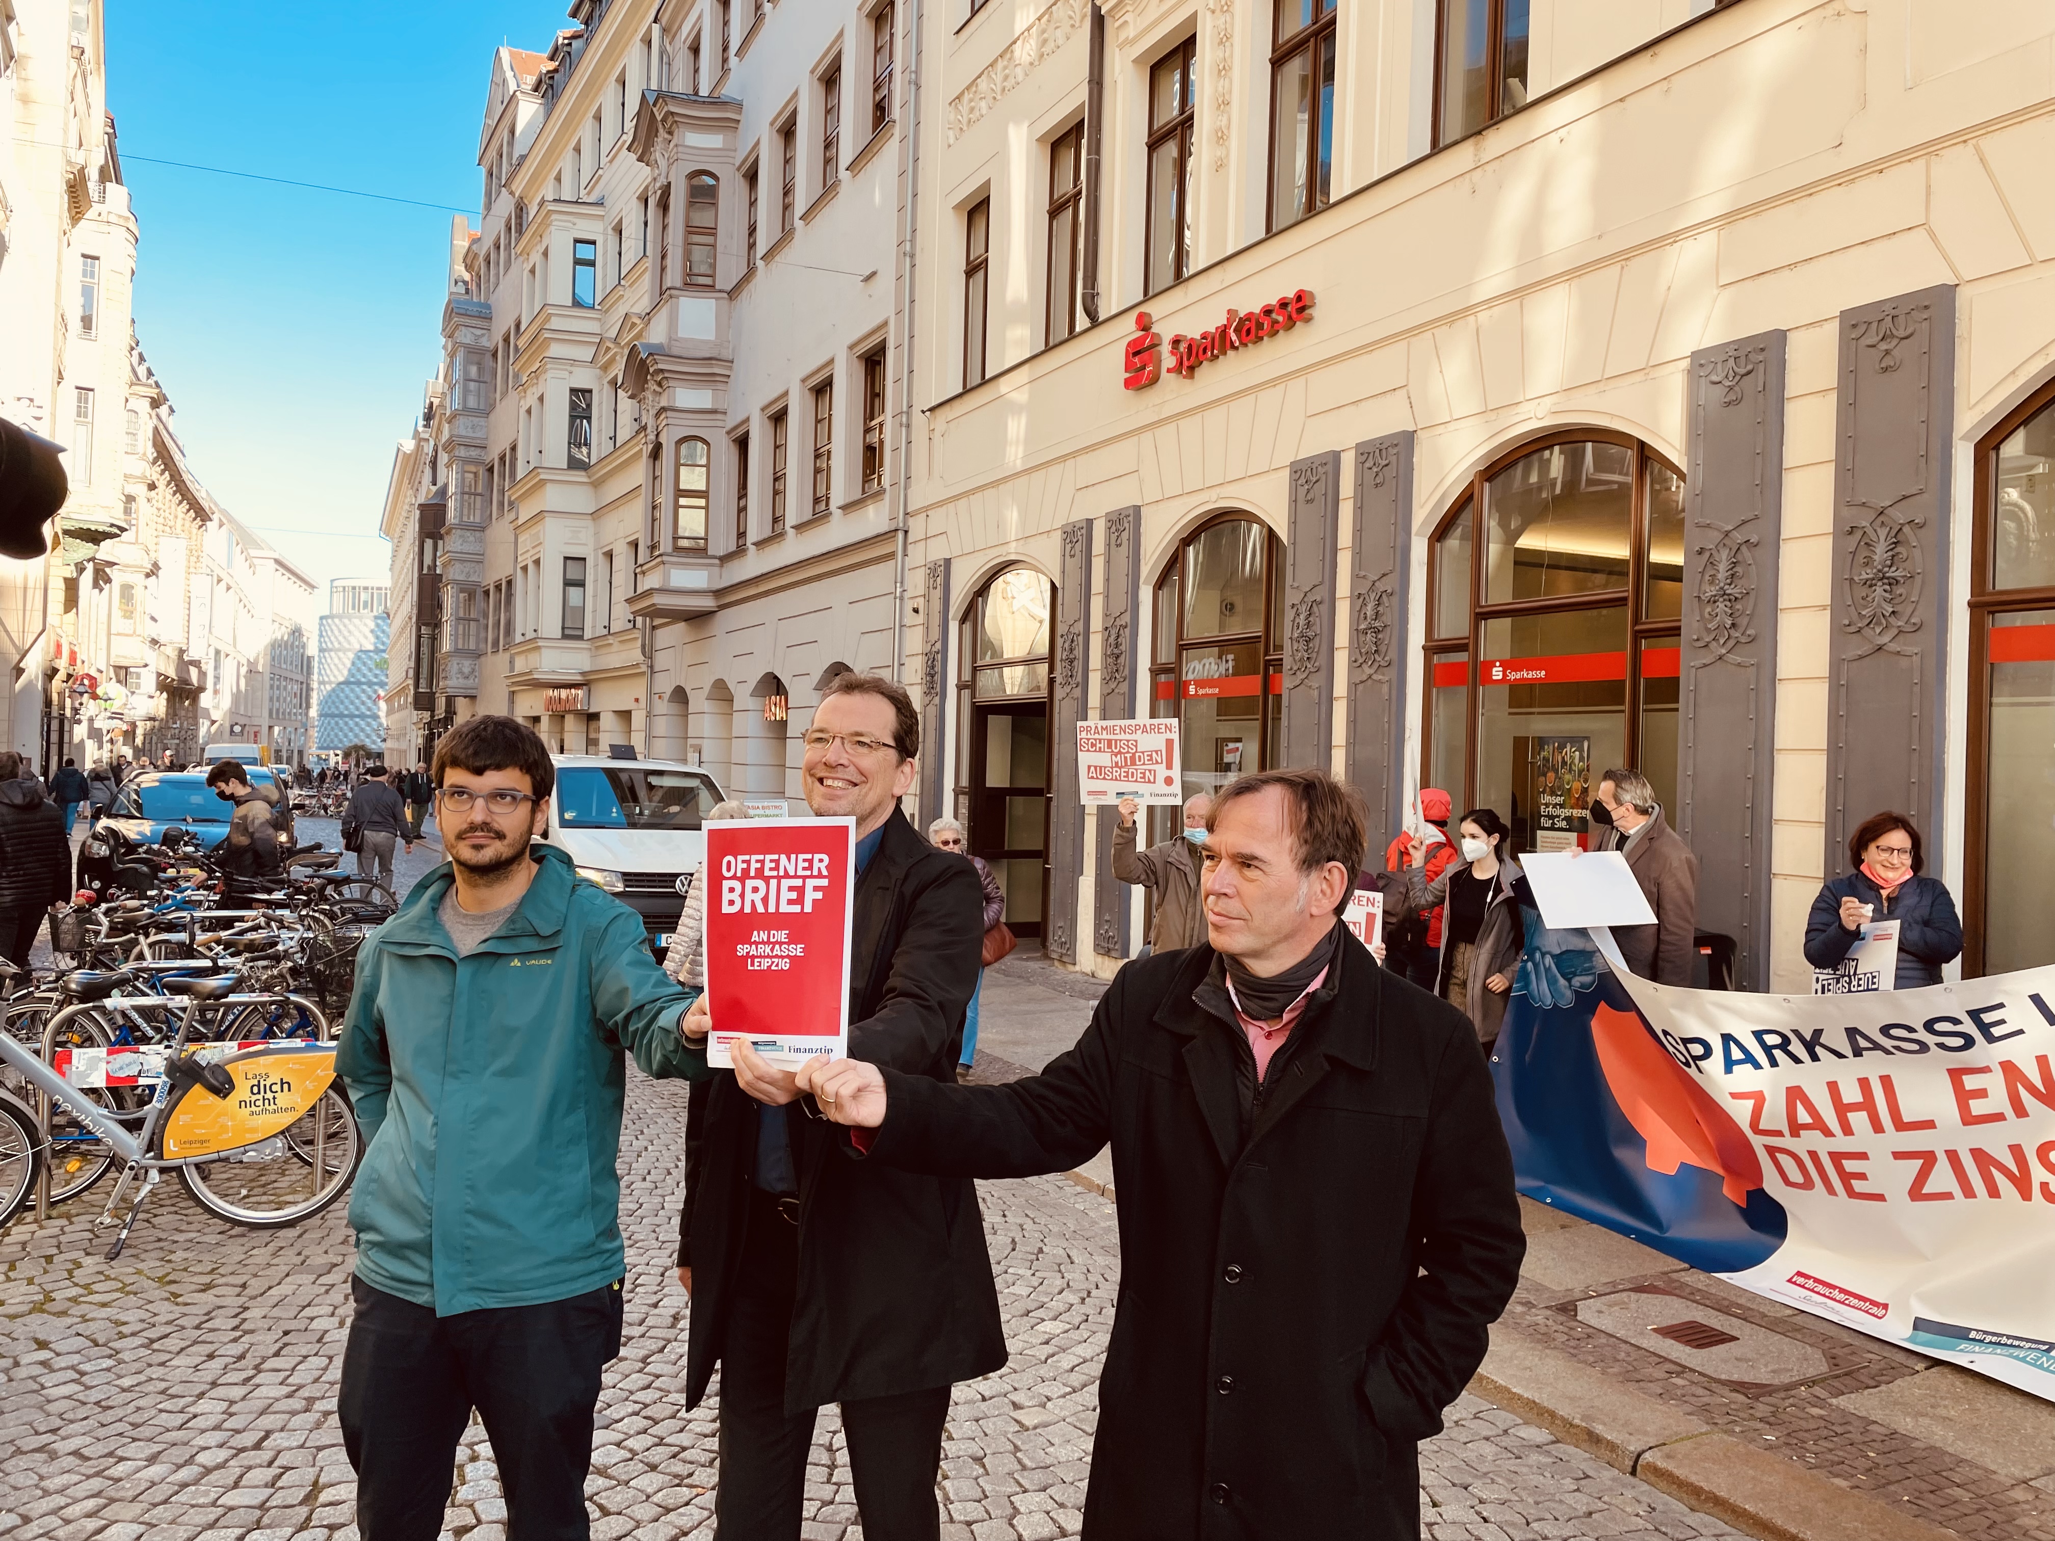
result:
M 491 51 L 547 49 L 569 25 L 565 0 L 107 0 L 107 101 L 142 228 L 138 337 L 193 471 L 321 586 L 388 567 L 362 536 L 440 364 Z

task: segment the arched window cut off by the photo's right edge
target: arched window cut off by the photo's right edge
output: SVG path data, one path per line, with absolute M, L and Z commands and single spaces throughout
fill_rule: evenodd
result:
M 1977 446 L 1969 674 L 1963 974 L 1975 978 L 2055 962 L 2055 380 Z

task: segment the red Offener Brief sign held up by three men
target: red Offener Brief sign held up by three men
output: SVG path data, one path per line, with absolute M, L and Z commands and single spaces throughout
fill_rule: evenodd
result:
M 740 1038 L 773 1064 L 849 1052 L 857 824 L 752 818 L 707 826 L 707 1062 Z

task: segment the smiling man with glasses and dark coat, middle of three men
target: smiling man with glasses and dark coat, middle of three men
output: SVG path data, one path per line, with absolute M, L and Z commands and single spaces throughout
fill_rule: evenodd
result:
M 857 822 L 849 1052 L 954 1087 L 982 888 L 968 857 L 931 847 L 898 810 L 921 717 L 898 684 L 843 674 L 804 742 L 808 807 Z M 705 1044 L 711 1025 L 701 997 L 686 1038 Z M 935 1541 L 949 1387 L 1007 1362 L 978 1196 L 968 1177 L 849 1161 L 847 1136 L 797 1099 L 791 1070 L 738 1046 L 695 1140 L 678 1253 L 693 1290 L 686 1405 L 719 1360 L 717 1527 L 797 1541 L 814 1412 L 838 1401 L 863 1533 Z

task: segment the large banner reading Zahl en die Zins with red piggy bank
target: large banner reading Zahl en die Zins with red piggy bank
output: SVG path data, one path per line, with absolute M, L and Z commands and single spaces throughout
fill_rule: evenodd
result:
M 2055 968 L 1741 994 L 1541 935 L 1492 1054 L 1521 1192 L 2055 1399 Z

